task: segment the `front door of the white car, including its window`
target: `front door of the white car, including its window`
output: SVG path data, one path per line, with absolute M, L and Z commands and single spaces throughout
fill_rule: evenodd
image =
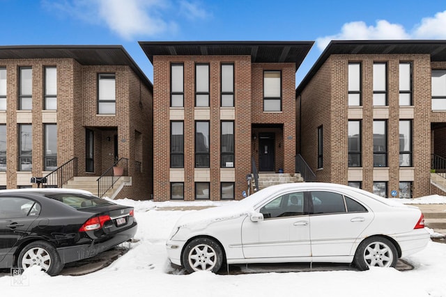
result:
M 304 192 L 280 195 L 257 209 L 263 220 L 242 225 L 245 258 L 309 257 L 309 216 Z

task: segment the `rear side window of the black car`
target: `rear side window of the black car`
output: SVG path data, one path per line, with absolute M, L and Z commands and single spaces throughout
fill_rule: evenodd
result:
M 0 198 L 0 218 L 24 218 L 39 214 L 40 204 L 33 200 L 18 197 Z

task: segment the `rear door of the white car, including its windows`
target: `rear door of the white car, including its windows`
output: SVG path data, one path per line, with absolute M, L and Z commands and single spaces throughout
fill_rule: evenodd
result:
M 374 218 L 359 202 L 340 193 L 312 191 L 309 216 L 313 257 L 353 255 L 353 243 Z

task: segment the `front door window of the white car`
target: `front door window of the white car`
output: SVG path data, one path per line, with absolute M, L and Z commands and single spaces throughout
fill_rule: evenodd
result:
M 263 218 L 282 218 L 304 214 L 304 192 L 282 195 L 260 209 Z

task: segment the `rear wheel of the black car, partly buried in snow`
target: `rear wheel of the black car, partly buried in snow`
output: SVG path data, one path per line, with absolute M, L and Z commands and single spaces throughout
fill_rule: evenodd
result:
M 34 241 L 25 246 L 19 254 L 17 264 L 25 269 L 40 266 L 49 275 L 56 275 L 63 268 L 56 248 L 46 241 Z

